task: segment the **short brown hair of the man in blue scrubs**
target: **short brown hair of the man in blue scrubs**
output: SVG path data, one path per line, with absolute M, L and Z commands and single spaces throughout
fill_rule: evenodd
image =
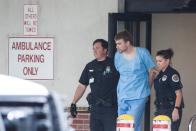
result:
M 133 43 L 132 34 L 127 30 L 121 31 L 116 34 L 114 40 L 119 40 L 119 39 L 123 39 L 125 42 L 130 41 L 131 44 Z

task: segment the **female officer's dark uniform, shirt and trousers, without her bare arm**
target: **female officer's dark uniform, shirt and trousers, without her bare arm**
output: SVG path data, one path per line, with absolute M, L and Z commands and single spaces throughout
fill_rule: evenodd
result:
M 154 80 L 154 88 L 156 92 L 156 112 L 157 115 L 167 115 L 172 120 L 172 112 L 175 106 L 176 94 L 175 91 L 181 89 L 182 83 L 180 80 L 180 74 L 178 71 L 173 69 L 171 66 L 168 66 L 164 72 L 160 72 Z M 182 108 L 184 103 L 180 105 L 179 117 L 180 119 L 173 122 L 171 125 L 171 131 L 178 131 L 181 117 L 182 117 Z

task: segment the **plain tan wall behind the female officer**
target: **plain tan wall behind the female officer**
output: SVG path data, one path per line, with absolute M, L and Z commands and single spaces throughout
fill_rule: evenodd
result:
M 172 63 L 184 85 L 185 108 L 180 131 L 187 131 L 190 117 L 196 114 L 196 14 L 152 15 L 153 56 L 157 50 L 166 48 L 174 50 Z

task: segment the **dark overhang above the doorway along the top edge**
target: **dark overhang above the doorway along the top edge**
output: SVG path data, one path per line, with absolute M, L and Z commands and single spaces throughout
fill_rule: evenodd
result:
M 196 0 L 125 0 L 126 12 L 196 12 Z

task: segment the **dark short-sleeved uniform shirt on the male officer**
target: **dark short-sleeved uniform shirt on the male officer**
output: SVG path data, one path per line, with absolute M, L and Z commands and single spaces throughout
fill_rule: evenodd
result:
M 116 103 L 116 88 L 119 74 L 114 67 L 111 58 L 104 61 L 96 59 L 89 62 L 84 68 L 79 82 L 83 85 L 90 85 L 92 95 L 103 100 L 113 99 Z

